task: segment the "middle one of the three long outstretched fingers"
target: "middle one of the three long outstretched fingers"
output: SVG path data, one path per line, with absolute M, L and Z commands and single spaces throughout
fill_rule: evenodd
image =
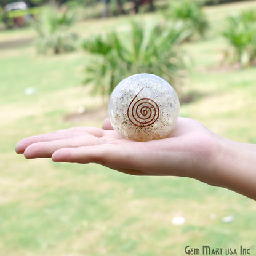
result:
M 102 143 L 102 139 L 93 135 L 73 137 L 62 140 L 53 140 L 49 142 L 37 142 L 29 145 L 24 156 L 27 159 L 50 158 L 52 154 L 60 148 L 75 148 L 80 146 L 91 146 Z

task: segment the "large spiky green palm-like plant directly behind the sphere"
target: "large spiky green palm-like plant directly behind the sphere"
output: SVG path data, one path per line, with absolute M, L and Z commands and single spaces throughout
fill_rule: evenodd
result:
M 174 82 L 174 74 L 182 67 L 177 45 L 188 35 L 182 22 L 132 22 L 126 31 L 92 36 L 83 44 L 95 55 L 86 66 L 85 83 L 92 82 L 94 93 L 108 95 L 131 74 L 153 73 Z

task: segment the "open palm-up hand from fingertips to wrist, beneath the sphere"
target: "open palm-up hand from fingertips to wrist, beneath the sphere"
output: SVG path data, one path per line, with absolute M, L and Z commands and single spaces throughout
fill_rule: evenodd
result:
M 108 119 L 102 128 L 74 127 L 28 137 L 18 142 L 15 150 L 27 159 L 95 162 L 127 174 L 175 175 L 214 183 L 216 135 L 198 121 L 178 118 L 169 137 L 148 142 L 123 138 Z

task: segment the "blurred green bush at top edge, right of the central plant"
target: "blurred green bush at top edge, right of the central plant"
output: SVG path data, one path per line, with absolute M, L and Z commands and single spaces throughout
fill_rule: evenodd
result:
M 193 32 L 204 36 L 209 23 L 202 11 L 199 2 L 193 0 L 171 1 L 169 8 L 164 12 L 167 19 L 182 20 Z

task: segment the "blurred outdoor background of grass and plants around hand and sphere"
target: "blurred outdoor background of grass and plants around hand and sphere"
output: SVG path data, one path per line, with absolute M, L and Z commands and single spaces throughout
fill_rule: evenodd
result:
M 0 6 L 0 255 L 167 256 L 188 245 L 256 254 L 256 204 L 244 196 L 14 151 L 31 135 L 101 127 L 114 86 L 135 73 L 169 81 L 180 116 L 255 143 L 256 1 Z

